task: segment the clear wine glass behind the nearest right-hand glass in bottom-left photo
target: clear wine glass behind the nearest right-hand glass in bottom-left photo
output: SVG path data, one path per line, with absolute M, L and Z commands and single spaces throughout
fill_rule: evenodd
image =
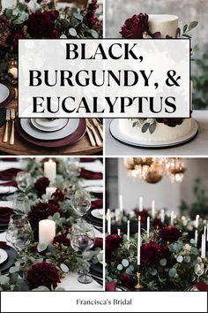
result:
M 91 196 L 84 189 L 77 190 L 71 198 L 71 205 L 78 215 L 82 218 L 91 208 Z

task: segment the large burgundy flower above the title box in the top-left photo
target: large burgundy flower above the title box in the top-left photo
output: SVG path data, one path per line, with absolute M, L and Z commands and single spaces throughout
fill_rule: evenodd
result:
M 51 34 L 55 29 L 54 23 L 46 12 L 37 11 L 29 15 L 25 25 L 27 33 L 32 38 L 51 38 Z

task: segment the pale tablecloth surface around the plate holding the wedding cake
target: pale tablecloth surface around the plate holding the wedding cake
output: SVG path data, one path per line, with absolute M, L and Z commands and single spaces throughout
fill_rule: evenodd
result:
M 106 119 L 107 156 L 207 156 L 208 155 L 208 111 L 194 111 L 198 134 L 193 141 L 170 149 L 140 149 L 116 141 L 109 132 L 111 118 Z

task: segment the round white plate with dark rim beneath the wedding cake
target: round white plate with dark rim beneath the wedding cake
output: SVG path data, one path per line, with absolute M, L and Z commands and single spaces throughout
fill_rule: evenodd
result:
M 197 134 L 198 126 L 196 120 L 192 118 L 191 120 L 191 129 L 189 134 L 182 136 L 181 138 L 177 138 L 170 141 L 137 141 L 134 138 L 131 138 L 129 135 L 125 135 L 120 131 L 118 125 L 118 118 L 115 118 L 110 123 L 110 134 L 117 140 L 126 145 L 134 146 L 137 148 L 146 148 L 146 149 L 158 149 L 158 148 L 168 148 L 174 147 L 177 145 L 182 145 L 187 141 L 193 139 Z

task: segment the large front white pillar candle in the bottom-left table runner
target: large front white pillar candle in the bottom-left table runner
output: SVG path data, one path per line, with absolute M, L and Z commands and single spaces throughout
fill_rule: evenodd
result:
M 39 222 L 39 243 L 51 243 L 56 236 L 56 223 L 49 219 Z

